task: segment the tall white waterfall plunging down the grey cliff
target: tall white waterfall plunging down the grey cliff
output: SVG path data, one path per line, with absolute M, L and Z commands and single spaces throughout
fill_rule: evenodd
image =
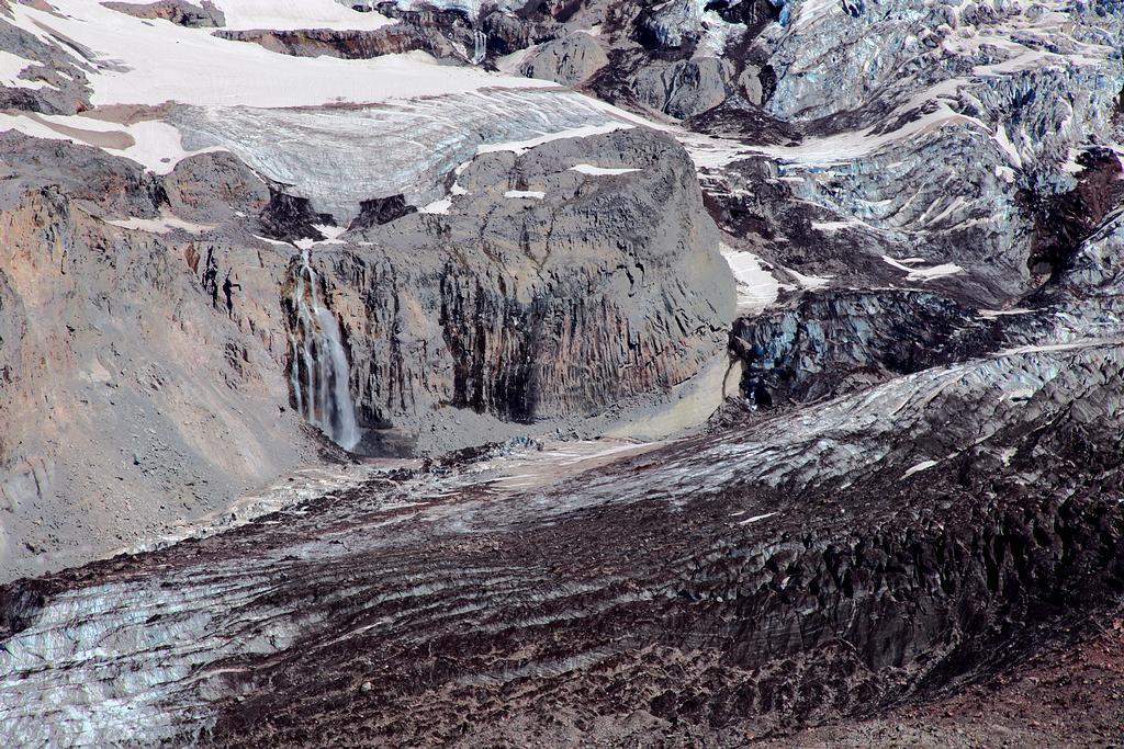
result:
M 336 445 L 351 450 L 359 444 L 360 429 L 347 384 L 351 378 L 347 353 L 336 316 L 320 305 L 308 249 L 301 250 L 300 259 L 292 300 L 297 325 L 289 337 L 292 345 L 289 382 L 300 414 Z

